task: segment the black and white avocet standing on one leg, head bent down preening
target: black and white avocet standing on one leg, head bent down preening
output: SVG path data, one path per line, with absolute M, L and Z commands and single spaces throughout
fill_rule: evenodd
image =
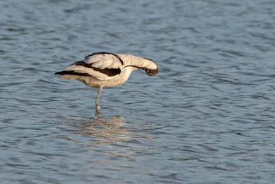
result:
M 138 69 L 145 70 L 148 76 L 154 76 L 158 72 L 157 64 L 145 57 L 96 52 L 55 74 L 60 74 L 61 78 L 83 81 L 90 87 L 98 88 L 96 109 L 100 110 L 99 98 L 102 88 L 122 85 L 127 81 L 131 72 Z

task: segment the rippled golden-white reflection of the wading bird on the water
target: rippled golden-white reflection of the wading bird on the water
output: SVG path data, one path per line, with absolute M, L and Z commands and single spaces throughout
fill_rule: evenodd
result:
M 81 122 L 74 121 L 71 125 L 76 127 L 78 134 L 82 136 L 69 140 L 92 145 L 82 147 L 89 152 L 96 154 L 100 152 L 101 156 L 111 156 L 105 158 L 106 162 L 110 161 L 109 158 L 134 160 L 133 155 L 148 154 L 148 141 L 155 141 L 146 132 L 150 130 L 148 125 L 151 123 L 133 123 L 122 116 L 101 116 L 96 113 L 95 117 L 85 118 L 85 121 Z

